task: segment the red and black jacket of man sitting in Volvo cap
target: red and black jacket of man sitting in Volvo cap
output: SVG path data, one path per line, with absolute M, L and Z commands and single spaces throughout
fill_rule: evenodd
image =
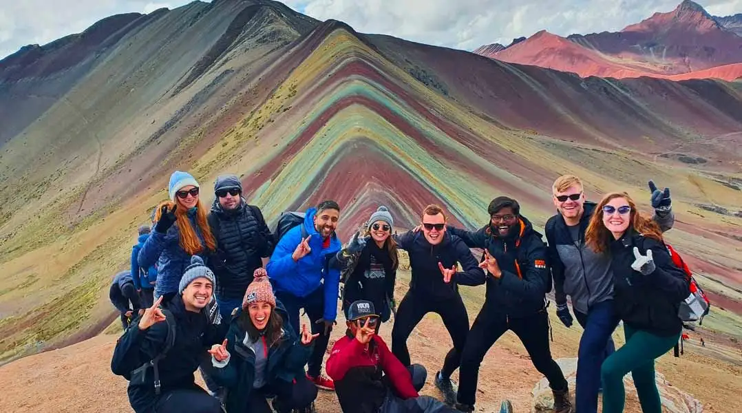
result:
M 364 346 L 348 331 L 332 346 L 325 370 L 335 380 L 343 412 L 378 412 L 389 391 L 402 399 L 418 397 L 410 371 L 377 335 Z

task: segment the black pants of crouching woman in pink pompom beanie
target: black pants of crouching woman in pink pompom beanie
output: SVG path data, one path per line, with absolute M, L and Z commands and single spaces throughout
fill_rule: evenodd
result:
M 266 400 L 266 397 L 272 395 L 275 395 L 273 406 L 276 412 L 291 412 L 292 409 L 303 409 L 312 404 L 317 398 L 317 386 L 306 380 L 306 377 L 298 376 L 295 383 L 278 380 L 262 389 L 253 389 L 244 413 L 272 413 Z

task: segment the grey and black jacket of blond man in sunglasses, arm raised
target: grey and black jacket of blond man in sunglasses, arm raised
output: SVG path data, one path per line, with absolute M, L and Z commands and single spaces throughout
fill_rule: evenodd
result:
M 588 314 L 591 306 L 613 298 L 613 274 L 611 259 L 606 254 L 596 254 L 585 244 L 585 230 L 597 208 L 595 202 L 585 201 L 582 206 L 578 239 L 574 241 L 567 223 L 561 214 L 548 219 L 545 225 L 548 240 L 548 258 L 554 277 L 554 299 L 557 304 L 567 303 L 582 314 Z M 674 224 L 672 211 L 655 211 L 654 221 L 662 231 Z

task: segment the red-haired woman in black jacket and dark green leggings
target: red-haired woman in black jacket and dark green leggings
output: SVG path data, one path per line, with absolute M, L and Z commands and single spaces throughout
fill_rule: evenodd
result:
M 686 274 L 672 262 L 662 231 L 642 217 L 626 193 L 607 194 L 591 217 L 585 241 L 611 256 L 614 307 L 626 344 L 603 362 L 603 413 L 623 412 L 623 377 L 634 379 L 644 413 L 660 413 L 654 359 L 674 347 L 683 323 L 677 315 L 689 294 Z

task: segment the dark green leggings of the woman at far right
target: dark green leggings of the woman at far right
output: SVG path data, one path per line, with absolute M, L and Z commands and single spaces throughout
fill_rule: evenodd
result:
M 661 337 L 624 324 L 626 344 L 603 362 L 603 413 L 623 413 L 626 391 L 623 377 L 631 371 L 643 413 L 662 413 L 660 392 L 654 382 L 654 359 L 665 354 L 680 339 L 680 333 Z

